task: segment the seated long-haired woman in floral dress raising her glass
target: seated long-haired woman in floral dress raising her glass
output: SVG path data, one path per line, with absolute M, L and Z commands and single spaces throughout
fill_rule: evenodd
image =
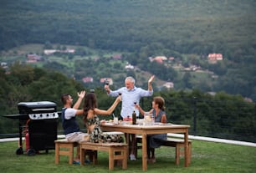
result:
M 117 97 L 115 102 L 110 106 L 109 109 L 103 110 L 98 109 L 96 96 L 94 93 L 89 93 L 85 95 L 84 99 L 84 124 L 87 127 L 87 133 L 90 134 L 90 141 L 99 142 L 124 142 L 122 136 L 120 135 L 107 135 L 103 134 L 100 129 L 100 119 L 97 114 L 100 115 L 110 115 L 116 105 L 120 102 L 121 97 Z

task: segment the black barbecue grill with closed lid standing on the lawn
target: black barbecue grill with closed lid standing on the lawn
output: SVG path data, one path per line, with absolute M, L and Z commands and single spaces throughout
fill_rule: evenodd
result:
M 57 106 L 54 102 L 20 102 L 19 114 L 5 115 L 7 118 L 19 120 L 19 148 L 17 155 L 23 154 L 22 136 L 24 122 L 28 122 L 29 147 L 28 155 L 35 155 L 39 150 L 54 149 L 57 140 L 58 118 Z

